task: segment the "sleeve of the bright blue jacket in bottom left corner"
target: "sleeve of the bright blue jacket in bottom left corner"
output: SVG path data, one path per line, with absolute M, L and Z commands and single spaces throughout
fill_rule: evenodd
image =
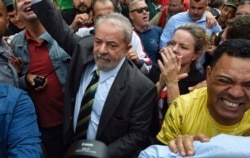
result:
M 17 96 L 8 131 L 9 158 L 42 157 L 40 132 L 33 102 L 25 92 Z

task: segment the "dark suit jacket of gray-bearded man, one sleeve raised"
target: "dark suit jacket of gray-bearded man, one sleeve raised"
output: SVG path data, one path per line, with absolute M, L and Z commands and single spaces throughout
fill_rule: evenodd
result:
M 72 55 L 65 87 L 64 138 L 72 141 L 75 98 L 86 65 L 94 62 L 93 36 L 78 37 L 49 0 L 32 5 L 46 30 Z M 147 145 L 156 87 L 129 60 L 119 70 L 105 101 L 96 140 L 108 145 L 110 157 L 129 157 Z

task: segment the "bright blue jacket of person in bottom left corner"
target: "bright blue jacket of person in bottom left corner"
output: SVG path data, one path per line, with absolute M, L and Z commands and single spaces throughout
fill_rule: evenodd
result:
M 34 105 L 26 92 L 0 83 L 0 158 L 41 158 Z

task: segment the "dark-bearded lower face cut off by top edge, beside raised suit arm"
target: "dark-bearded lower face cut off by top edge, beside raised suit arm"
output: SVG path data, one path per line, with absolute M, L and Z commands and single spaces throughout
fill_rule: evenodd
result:
M 91 10 L 91 0 L 72 0 L 72 3 L 78 13 L 88 13 Z

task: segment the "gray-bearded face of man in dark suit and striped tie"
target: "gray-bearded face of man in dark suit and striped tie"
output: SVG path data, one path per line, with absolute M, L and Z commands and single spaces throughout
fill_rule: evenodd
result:
M 129 49 L 121 28 L 104 21 L 95 29 L 94 58 L 103 71 L 114 69 Z

